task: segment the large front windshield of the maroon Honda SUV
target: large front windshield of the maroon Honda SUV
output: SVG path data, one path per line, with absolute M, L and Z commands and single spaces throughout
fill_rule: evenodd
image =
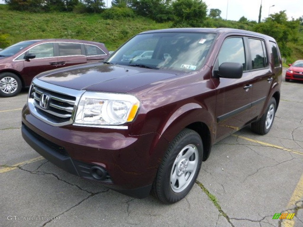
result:
M 105 63 L 195 71 L 203 65 L 215 36 L 190 32 L 140 34 L 124 44 Z

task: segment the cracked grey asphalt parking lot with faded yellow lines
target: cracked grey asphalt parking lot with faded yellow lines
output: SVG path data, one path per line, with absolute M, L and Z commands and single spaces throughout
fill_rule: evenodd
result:
M 39 156 L 21 136 L 27 91 L 0 98 L 0 226 L 303 226 L 303 83 L 282 82 L 267 135 L 248 126 L 215 144 L 191 192 L 172 205 L 122 195 Z M 295 216 L 272 219 L 283 212 Z

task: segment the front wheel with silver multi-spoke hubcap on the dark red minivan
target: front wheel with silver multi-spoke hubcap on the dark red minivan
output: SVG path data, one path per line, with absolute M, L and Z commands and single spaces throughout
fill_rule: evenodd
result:
M 22 83 L 20 78 L 13 73 L 5 72 L 0 74 L 0 96 L 13 97 L 21 91 Z

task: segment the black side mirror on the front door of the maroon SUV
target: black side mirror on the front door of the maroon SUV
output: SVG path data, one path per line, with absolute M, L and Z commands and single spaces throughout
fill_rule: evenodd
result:
M 243 65 L 235 62 L 224 62 L 219 66 L 219 70 L 216 71 L 217 77 L 238 79 L 243 74 Z

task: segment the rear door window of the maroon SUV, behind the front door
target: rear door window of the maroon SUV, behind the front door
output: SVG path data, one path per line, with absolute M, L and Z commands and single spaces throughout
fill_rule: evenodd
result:
M 252 69 L 260 69 L 267 66 L 266 50 L 264 41 L 259 39 L 248 39 L 251 51 Z

